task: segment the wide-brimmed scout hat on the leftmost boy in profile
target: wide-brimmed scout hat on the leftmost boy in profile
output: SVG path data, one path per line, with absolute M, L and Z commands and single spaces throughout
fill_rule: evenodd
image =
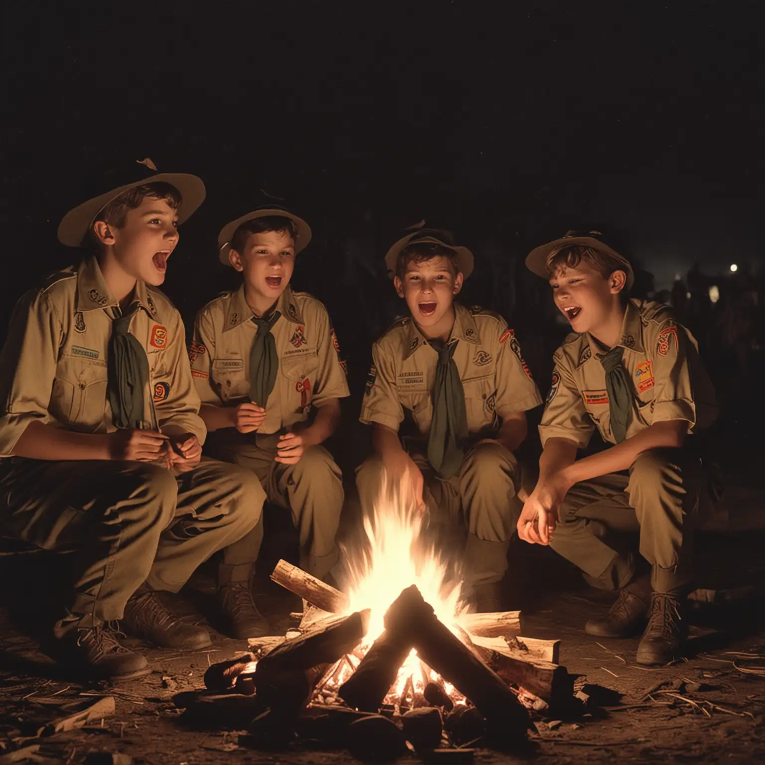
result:
M 158 173 L 157 166 L 148 157 L 142 160 L 136 160 L 125 168 L 119 168 L 117 171 L 109 174 L 110 183 L 117 185 L 106 194 L 99 194 L 97 197 L 83 202 L 82 204 L 70 210 L 58 226 L 58 240 L 60 243 L 69 247 L 80 247 L 85 243 L 90 226 L 96 220 L 96 216 L 116 197 L 119 197 L 123 191 L 143 186 L 144 184 L 155 184 L 164 182 L 171 184 L 181 192 L 183 201 L 181 207 L 178 207 L 178 225 L 188 220 L 192 213 L 204 200 L 205 190 L 202 179 L 196 175 L 187 173 Z M 103 177 L 99 180 L 99 188 L 103 188 Z

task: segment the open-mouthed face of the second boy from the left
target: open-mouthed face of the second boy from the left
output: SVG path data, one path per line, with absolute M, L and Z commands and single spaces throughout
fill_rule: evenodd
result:
M 281 297 L 295 268 L 295 241 L 287 231 L 251 233 L 243 252 L 229 252 L 231 265 L 242 272 L 248 298 L 270 308 Z

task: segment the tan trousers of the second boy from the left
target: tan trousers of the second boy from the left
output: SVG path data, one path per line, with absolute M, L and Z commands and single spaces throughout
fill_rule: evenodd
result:
M 218 431 L 220 434 L 221 431 Z M 205 450 L 217 459 L 252 470 L 269 502 L 291 510 L 300 538 L 300 567 L 324 578 L 337 563 L 335 535 L 343 509 L 343 476 L 322 446 L 306 449 L 298 464 L 275 462 L 278 435 L 210 434 Z M 245 571 L 258 558 L 262 523 L 223 552 L 223 564 Z M 236 571 L 233 574 L 237 578 Z

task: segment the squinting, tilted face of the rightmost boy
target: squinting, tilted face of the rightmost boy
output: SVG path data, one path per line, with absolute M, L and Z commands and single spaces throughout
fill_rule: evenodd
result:
M 623 271 L 608 278 L 586 262 L 576 268 L 558 266 L 550 278 L 555 305 L 575 332 L 596 332 L 609 324 L 619 310 L 619 293 L 626 280 Z

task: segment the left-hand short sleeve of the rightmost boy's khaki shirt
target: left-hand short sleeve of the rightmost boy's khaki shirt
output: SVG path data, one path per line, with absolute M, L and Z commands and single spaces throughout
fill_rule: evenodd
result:
M 584 409 L 574 376 L 559 352 L 555 353 L 554 362 L 552 383 L 539 425 L 539 438 L 542 446 L 549 438 L 568 438 L 578 448 L 584 449 L 590 443 L 595 426 Z

